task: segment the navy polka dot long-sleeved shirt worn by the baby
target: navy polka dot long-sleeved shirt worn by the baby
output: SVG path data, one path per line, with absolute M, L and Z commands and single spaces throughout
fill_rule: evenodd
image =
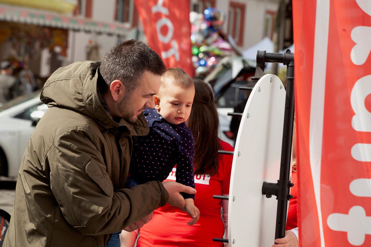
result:
M 139 184 L 154 180 L 162 182 L 177 165 L 176 181 L 194 188 L 194 140 L 190 129 L 185 122 L 178 125 L 167 122 L 156 109 L 147 108 L 143 115 L 150 132 L 133 141 L 130 177 Z M 182 195 L 194 199 L 194 195 Z

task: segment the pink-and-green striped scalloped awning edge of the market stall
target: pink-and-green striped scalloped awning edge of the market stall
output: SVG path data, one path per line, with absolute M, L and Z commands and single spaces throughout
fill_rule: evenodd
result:
M 37 26 L 71 29 L 76 31 L 125 35 L 130 28 L 128 23 L 98 22 L 74 16 L 47 13 L 22 7 L 11 7 L 0 4 L 0 20 L 7 22 L 33 24 Z

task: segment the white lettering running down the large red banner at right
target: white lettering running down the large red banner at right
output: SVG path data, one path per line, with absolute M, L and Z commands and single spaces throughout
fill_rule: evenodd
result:
M 368 0 L 355 0 L 358 6 L 371 16 L 371 4 Z M 358 26 L 352 29 L 351 39 L 355 42 L 351 50 L 351 60 L 355 65 L 363 65 L 371 51 L 371 27 Z M 351 106 L 355 113 L 352 128 L 355 131 L 371 132 L 371 113 L 365 107 L 365 99 L 371 93 L 371 75 L 364 76 L 354 83 L 351 92 Z M 357 143 L 352 146 L 351 155 L 357 161 L 371 162 L 371 144 Z M 349 184 L 349 190 L 357 197 L 371 197 L 371 179 L 357 178 Z M 365 235 L 371 234 L 371 217 L 366 216 L 363 207 L 355 205 L 348 214 L 333 213 L 327 218 L 327 225 L 334 231 L 347 232 L 348 242 L 360 246 Z

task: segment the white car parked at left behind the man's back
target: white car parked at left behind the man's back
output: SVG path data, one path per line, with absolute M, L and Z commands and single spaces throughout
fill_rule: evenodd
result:
M 24 151 L 36 122 L 31 113 L 45 112 L 40 91 L 20 96 L 0 106 L 0 176 L 16 180 Z M 42 114 L 41 114 L 42 115 Z

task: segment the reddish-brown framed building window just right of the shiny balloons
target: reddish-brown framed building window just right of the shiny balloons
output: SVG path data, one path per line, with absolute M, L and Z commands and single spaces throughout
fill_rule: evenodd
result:
M 243 45 L 243 30 L 246 5 L 230 2 L 228 12 L 228 34 L 233 37 L 237 45 Z

